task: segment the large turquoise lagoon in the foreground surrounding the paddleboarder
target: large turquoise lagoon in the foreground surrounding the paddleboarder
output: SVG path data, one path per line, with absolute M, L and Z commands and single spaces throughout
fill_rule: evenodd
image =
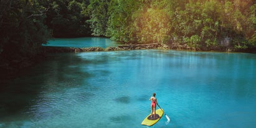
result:
M 0 127 L 255 127 L 256 55 L 138 50 L 54 54 L 2 82 Z

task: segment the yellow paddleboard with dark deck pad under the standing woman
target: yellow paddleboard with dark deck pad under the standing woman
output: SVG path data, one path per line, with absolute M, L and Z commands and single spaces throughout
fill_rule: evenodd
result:
M 145 119 L 141 122 L 141 125 L 145 125 L 145 126 L 153 126 L 154 124 L 156 124 L 156 122 L 159 121 L 159 119 L 161 119 L 161 117 L 164 114 L 164 110 L 163 109 L 157 109 L 156 110 L 156 118 L 154 118 L 154 112 L 153 115 L 151 117 L 151 114 L 149 114 L 148 116 L 145 117 Z

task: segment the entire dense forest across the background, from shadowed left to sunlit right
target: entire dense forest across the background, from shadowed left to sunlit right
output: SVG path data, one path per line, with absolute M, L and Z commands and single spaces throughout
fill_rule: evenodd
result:
M 5 64 L 40 54 L 52 37 L 239 51 L 256 48 L 256 1 L 1 0 L 0 32 Z

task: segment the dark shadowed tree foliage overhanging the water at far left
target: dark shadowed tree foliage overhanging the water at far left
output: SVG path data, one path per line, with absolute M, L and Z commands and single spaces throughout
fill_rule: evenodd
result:
M 51 35 L 44 23 L 49 8 L 26 0 L 4 0 L 0 5 L 0 59 L 13 61 L 37 54 Z

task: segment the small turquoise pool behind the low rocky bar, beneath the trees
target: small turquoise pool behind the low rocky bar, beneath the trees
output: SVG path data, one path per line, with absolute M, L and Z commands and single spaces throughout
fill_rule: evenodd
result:
M 84 37 L 84 38 L 54 38 L 49 40 L 47 45 L 44 46 L 60 46 L 60 47 L 73 47 L 73 48 L 89 48 L 101 47 L 107 48 L 109 46 L 117 46 L 116 41 L 109 38 L 100 37 Z

